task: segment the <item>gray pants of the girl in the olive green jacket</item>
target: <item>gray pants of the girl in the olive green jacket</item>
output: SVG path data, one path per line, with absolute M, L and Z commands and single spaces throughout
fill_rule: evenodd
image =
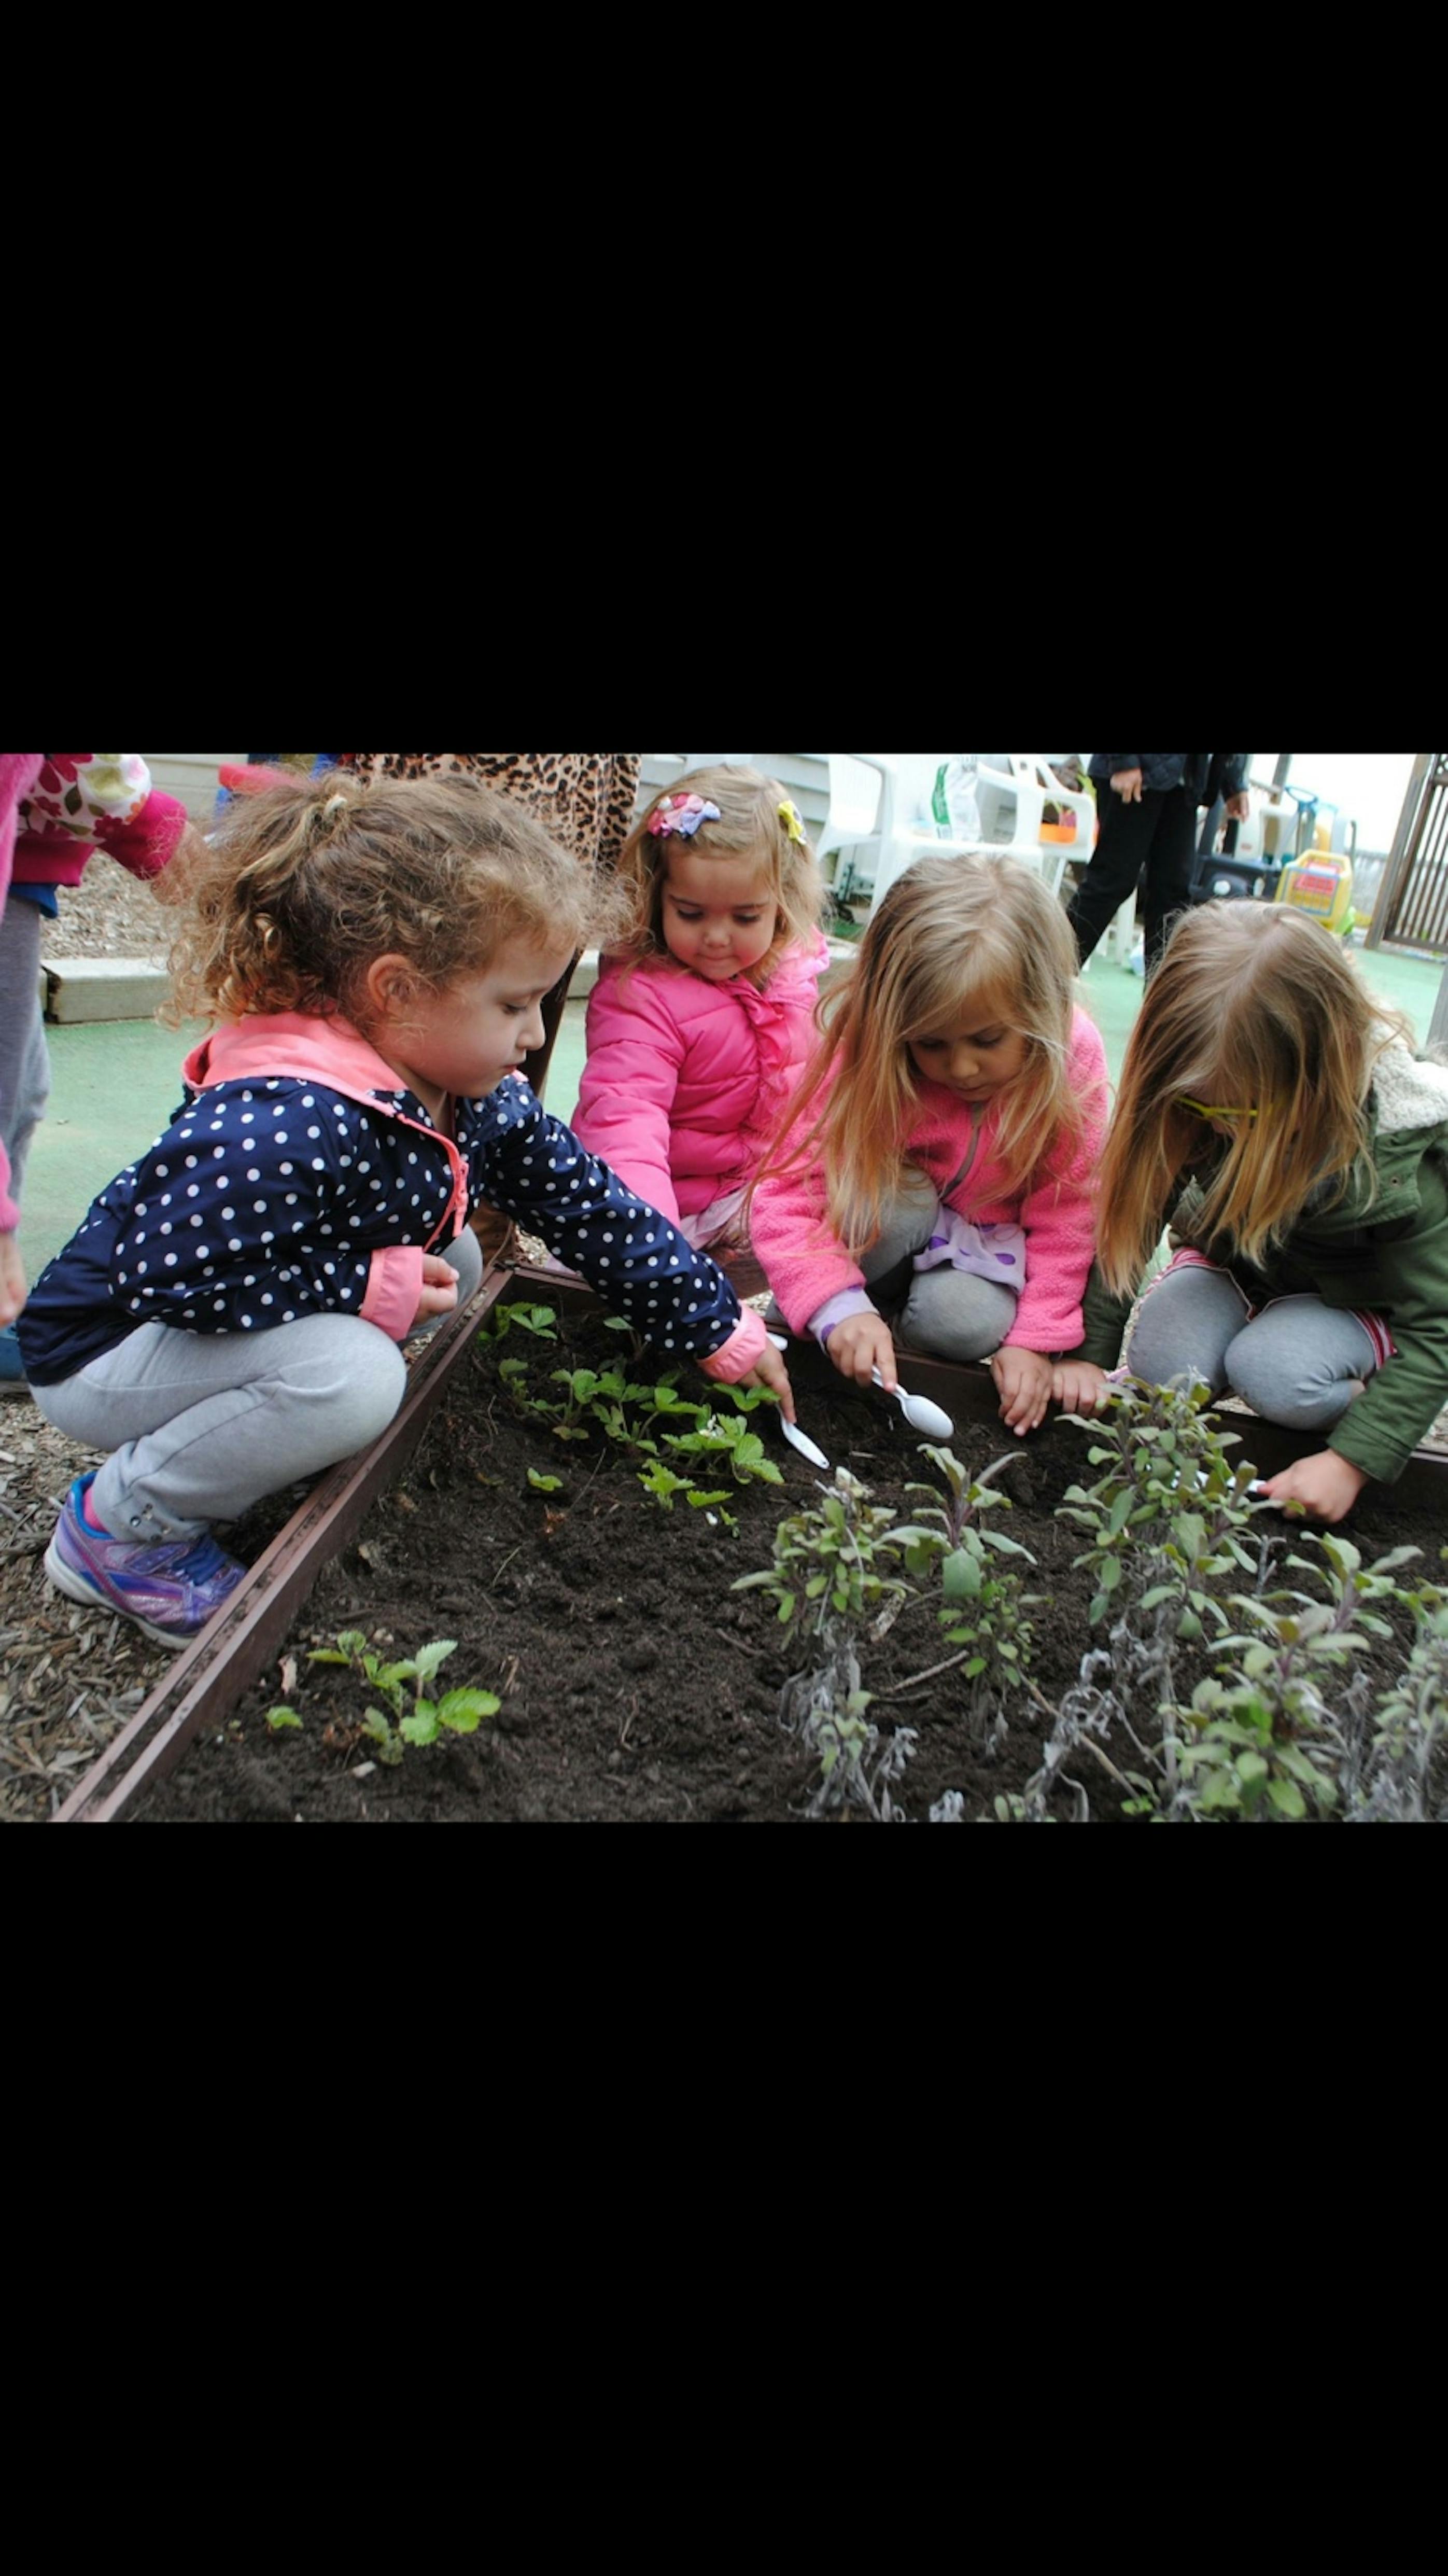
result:
M 1378 1352 L 1355 1314 L 1317 1296 L 1278 1298 L 1252 1321 L 1226 1270 L 1170 1270 L 1147 1293 L 1126 1363 L 1147 1386 L 1193 1370 L 1262 1422 L 1327 1432 L 1358 1401 Z

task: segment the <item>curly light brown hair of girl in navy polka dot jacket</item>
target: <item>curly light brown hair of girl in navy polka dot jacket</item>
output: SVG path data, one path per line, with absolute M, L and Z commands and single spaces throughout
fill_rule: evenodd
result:
M 368 1033 L 379 956 L 443 992 L 513 940 L 577 951 L 621 920 L 608 881 L 477 778 L 368 786 L 332 770 L 237 796 L 173 891 L 188 904 L 173 1023 L 296 1010 Z

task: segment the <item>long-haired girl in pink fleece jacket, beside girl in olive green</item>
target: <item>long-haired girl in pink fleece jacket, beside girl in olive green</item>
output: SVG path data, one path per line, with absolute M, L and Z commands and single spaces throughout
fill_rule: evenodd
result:
M 1108 1108 L 1074 976 L 1067 914 L 1015 860 L 928 858 L 879 904 L 752 1198 L 791 1329 L 861 1386 L 899 1383 L 889 1314 L 904 1350 L 995 1355 L 1010 1430 L 1046 1419 Z

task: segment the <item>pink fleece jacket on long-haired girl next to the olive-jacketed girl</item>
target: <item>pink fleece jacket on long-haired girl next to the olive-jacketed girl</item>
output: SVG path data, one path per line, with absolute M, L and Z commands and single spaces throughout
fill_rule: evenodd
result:
M 1064 1139 L 1046 1157 L 1036 1188 L 1023 1198 L 1010 1190 L 995 1154 L 1000 1110 L 987 1110 L 976 1159 L 961 1188 L 946 1200 L 976 1226 L 1023 1226 L 1028 1236 L 1025 1288 L 1010 1350 L 1080 1350 L 1085 1334 L 1085 1285 L 1095 1260 L 1092 1177 L 1105 1139 L 1108 1069 L 1100 1030 L 1082 1010 L 1074 1015 L 1072 1069 L 1074 1097 L 1085 1105 L 1085 1136 Z M 920 1087 L 920 1115 L 907 1144 L 907 1162 L 928 1172 L 935 1190 L 951 1180 L 971 1151 L 971 1108 L 938 1082 Z M 861 1265 L 830 1231 L 824 1216 L 824 1172 L 799 1180 L 763 1180 L 755 1190 L 755 1252 L 794 1332 L 845 1291 L 863 1291 Z

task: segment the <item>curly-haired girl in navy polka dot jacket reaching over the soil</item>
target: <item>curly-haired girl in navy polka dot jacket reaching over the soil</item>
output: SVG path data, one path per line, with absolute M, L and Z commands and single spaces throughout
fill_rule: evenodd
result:
M 472 778 L 332 775 L 237 799 L 196 871 L 175 1012 L 219 1025 L 21 1319 L 46 1419 L 111 1450 L 46 1553 L 59 1592 L 188 1643 L 245 1571 L 211 1522 L 386 1430 L 399 1345 L 482 1278 L 484 1198 L 794 1417 L 763 1319 L 518 1079 L 544 994 L 616 930 L 541 824 Z

